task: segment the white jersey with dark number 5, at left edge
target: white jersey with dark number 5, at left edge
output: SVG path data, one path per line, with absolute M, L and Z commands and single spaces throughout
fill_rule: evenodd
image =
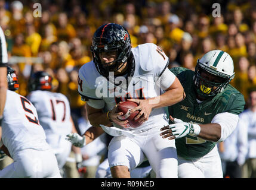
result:
M 2 120 L 2 142 L 11 156 L 26 148 L 46 150 L 45 132 L 38 120 L 36 108 L 26 97 L 7 90 Z

